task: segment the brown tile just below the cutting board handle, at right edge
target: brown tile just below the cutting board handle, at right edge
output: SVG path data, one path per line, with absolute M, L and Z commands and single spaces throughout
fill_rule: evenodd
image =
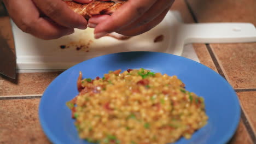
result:
M 211 47 L 232 87 L 256 88 L 256 43 L 211 44 Z

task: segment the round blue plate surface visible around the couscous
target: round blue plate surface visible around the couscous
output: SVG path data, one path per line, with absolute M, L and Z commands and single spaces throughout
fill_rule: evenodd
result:
M 100 56 L 79 63 L 60 74 L 45 90 L 39 105 L 39 118 L 44 133 L 53 143 L 89 143 L 78 137 L 65 105 L 78 94 L 79 71 L 83 77 L 102 77 L 109 70 L 149 69 L 167 75 L 177 75 L 188 91 L 205 99 L 208 124 L 181 143 L 226 143 L 235 133 L 240 120 L 237 95 L 215 71 L 190 59 L 158 52 L 123 52 Z

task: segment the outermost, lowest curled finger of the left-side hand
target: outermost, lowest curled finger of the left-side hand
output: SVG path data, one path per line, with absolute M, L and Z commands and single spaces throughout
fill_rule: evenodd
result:
M 38 9 L 32 1 L 4 1 L 8 13 L 16 25 L 26 33 L 41 39 L 56 39 L 63 35 L 71 34 L 72 28 L 56 25 L 47 19 L 39 18 Z M 21 7 L 20 5 L 23 5 Z

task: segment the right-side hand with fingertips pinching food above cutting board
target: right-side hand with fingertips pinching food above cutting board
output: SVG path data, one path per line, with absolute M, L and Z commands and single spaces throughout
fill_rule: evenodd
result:
M 129 0 L 111 16 L 94 16 L 89 27 L 95 28 L 95 38 L 117 32 L 134 36 L 158 25 L 170 10 L 174 0 Z

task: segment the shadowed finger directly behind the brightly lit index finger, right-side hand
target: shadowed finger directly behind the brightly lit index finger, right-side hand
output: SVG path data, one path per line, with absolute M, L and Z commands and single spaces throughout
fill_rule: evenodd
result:
M 175 0 L 163 0 L 155 2 L 153 7 L 151 7 L 142 17 L 137 19 L 131 25 L 122 28 L 123 30 L 134 29 L 136 27 L 145 25 L 146 23 L 154 20 L 158 17 L 165 9 L 170 9 Z

